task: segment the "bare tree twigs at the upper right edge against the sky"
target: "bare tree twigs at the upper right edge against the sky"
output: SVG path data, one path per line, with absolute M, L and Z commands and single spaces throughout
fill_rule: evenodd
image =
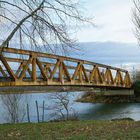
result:
M 135 35 L 140 44 L 140 0 L 133 0 L 133 23 L 135 24 Z

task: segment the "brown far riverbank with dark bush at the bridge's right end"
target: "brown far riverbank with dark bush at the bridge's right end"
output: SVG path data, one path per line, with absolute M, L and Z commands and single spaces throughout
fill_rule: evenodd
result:
M 77 102 L 82 103 L 140 103 L 140 80 L 133 83 L 134 95 L 105 95 L 101 92 L 86 92 Z

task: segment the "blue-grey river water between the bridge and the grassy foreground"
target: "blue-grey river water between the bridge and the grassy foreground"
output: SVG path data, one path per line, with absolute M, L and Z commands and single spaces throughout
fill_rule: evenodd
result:
M 38 101 L 40 121 L 42 120 L 42 104 L 45 101 L 45 121 L 50 121 L 56 118 L 52 116 L 55 113 L 55 106 L 50 96 L 54 93 L 35 93 L 25 95 L 28 98 L 30 119 L 32 122 L 37 122 L 37 111 L 35 101 Z M 66 93 L 61 93 L 66 94 Z M 74 109 L 76 115 L 81 120 L 111 120 L 116 118 L 132 118 L 140 120 L 140 103 L 79 103 L 75 99 L 80 98 L 84 92 L 69 92 L 70 107 Z M 24 96 L 23 96 L 24 98 Z M 26 108 L 26 103 L 22 103 L 22 107 Z M 6 123 L 7 112 L 3 108 L 3 103 L 0 102 L 0 123 Z M 47 107 L 51 107 L 48 109 Z M 70 111 L 73 114 L 73 111 Z M 21 113 L 22 114 L 22 113 Z M 27 114 L 25 111 L 24 121 L 27 122 Z

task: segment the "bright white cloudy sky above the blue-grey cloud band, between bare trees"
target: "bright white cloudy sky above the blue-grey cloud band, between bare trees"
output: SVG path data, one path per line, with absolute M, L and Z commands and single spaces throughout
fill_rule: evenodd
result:
M 79 42 L 111 41 L 136 43 L 132 22 L 133 0 L 81 0 L 95 26 L 84 25 Z

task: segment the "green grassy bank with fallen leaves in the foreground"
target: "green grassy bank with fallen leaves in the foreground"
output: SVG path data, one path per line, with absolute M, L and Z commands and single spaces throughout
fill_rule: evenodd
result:
M 0 140 L 139 140 L 140 122 L 68 121 L 0 125 Z

